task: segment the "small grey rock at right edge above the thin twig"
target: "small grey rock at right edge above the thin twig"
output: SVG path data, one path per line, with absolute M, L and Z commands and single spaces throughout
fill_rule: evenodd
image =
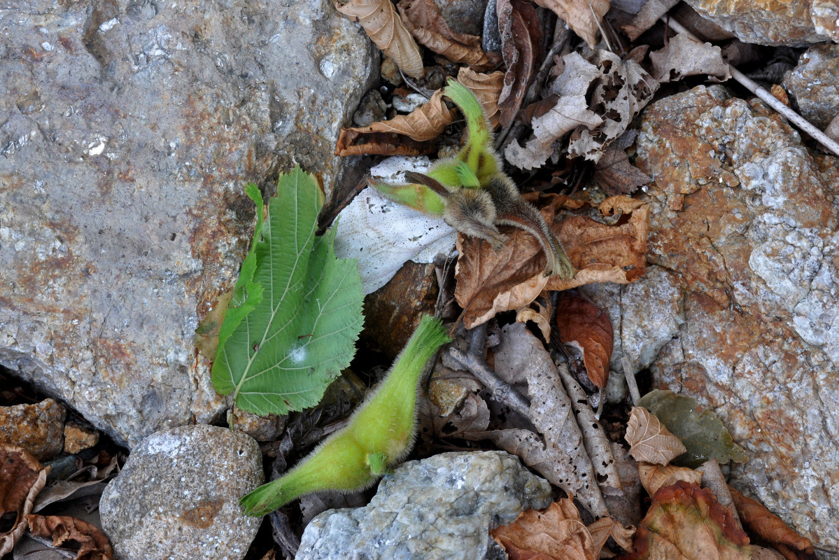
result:
M 784 75 L 801 116 L 824 130 L 839 115 L 839 44 L 816 44 Z

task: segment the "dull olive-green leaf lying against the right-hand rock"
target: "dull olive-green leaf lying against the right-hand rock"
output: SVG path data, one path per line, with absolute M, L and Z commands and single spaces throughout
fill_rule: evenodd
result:
M 670 390 L 654 390 L 638 400 L 658 417 L 675 437 L 687 448 L 670 463 L 696 468 L 710 458 L 719 463 L 745 463 L 746 451 L 732 440 L 726 427 L 710 409 L 696 412 L 699 403 L 686 395 L 676 395 Z

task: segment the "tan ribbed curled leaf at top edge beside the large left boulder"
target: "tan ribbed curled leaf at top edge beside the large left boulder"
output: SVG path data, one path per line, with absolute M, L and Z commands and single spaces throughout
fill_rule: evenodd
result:
M 336 3 L 335 9 L 361 24 L 373 43 L 405 74 L 412 78 L 423 76 L 420 48 L 405 29 L 390 0 L 350 0 Z

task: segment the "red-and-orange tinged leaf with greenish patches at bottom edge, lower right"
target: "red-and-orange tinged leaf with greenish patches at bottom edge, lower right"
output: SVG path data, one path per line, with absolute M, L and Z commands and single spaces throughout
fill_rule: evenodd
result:
M 653 496 L 623 560 L 750 560 L 748 536 L 709 489 L 677 482 Z

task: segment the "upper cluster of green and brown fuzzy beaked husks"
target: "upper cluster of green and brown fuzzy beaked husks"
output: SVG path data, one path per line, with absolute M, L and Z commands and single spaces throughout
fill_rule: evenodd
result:
M 524 229 L 541 244 L 547 264 L 545 275 L 571 279 L 574 266 L 539 211 L 525 201 L 519 187 L 502 170 L 492 149 L 492 132 L 481 103 L 465 86 L 449 79 L 444 95 L 466 117 L 468 139 L 456 156 L 438 161 L 427 174 L 408 171 L 412 184 L 375 185 L 376 189 L 420 212 L 442 216 L 457 231 L 492 243 L 494 249 L 507 241 L 498 226 Z

